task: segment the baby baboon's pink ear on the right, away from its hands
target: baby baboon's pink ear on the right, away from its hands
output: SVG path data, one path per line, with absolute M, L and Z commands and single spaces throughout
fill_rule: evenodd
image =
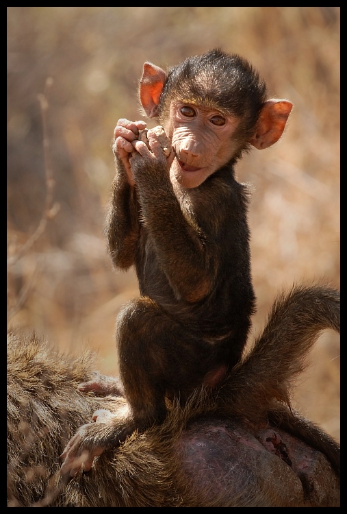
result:
M 257 129 L 250 144 L 258 150 L 268 148 L 279 140 L 293 104 L 288 100 L 272 98 L 264 103 L 257 123 Z

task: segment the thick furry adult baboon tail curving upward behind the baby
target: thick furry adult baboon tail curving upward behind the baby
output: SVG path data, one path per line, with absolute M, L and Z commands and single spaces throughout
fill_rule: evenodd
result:
M 329 286 L 294 284 L 279 294 L 264 331 L 222 388 L 229 410 L 257 423 L 274 400 L 289 405 L 307 354 L 323 330 L 339 332 L 339 314 L 339 291 Z

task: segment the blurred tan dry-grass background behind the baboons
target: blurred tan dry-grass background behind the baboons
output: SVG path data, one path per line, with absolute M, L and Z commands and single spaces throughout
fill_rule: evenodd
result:
M 253 149 L 237 166 L 240 182 L 254 186 L 254 334 L 279 289 L 322 276 L 339 286 L 339 8 L 12 7 L 10 325 L 35 328 L 66 351 L 92 347 L 99 369 L 117 373 L 116 314 L 138 286 L 133 271 L 112 270 L 103 236 L 114 126 L 120 117 L 139 119 L 145 60 L 166 67 L 213 47 L 246 57 L 270 95 L 294 103 L 279 143 Z M 46 220 L 47 171 L 54 188 Z M 298 380 L 295 406 L 339 439 L 339 338 L 331 331 Z

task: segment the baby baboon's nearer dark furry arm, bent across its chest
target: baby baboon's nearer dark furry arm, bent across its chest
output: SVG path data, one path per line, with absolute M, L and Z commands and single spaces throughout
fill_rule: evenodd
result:
M 131 169 L 138 184 L 141 216 L 172 289 L 178 298 L 198 302 L 211 291 L 218 271 L 220 249 L 214 234 L 186 219 L 165 158 L 151 162 L 136 153 L 131 156 Z

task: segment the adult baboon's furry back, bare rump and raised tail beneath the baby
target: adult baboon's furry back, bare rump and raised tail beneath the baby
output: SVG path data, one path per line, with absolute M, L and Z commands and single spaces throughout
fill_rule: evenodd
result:
M 339 293 L 294 286 L 218 391 L 170 405 L 164 424 L 71 480 L 60 477 L 66 441 L 99 408 L 122 415 L 125 400 L 77 389 L 94 377 L 91 354 L 64 356 L 10 330 L 8 506 L 339 506 L 337 443 L 287 406 L 326 328 L 339 330 Z

